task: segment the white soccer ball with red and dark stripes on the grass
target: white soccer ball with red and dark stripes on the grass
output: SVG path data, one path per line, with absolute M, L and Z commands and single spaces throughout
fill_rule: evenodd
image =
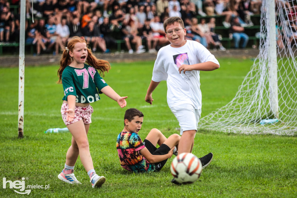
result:
M 181 153 L 173 159 L 170 170 L 178 183 L 193 183 L 200 177 L 202 164 L 192 153 Z

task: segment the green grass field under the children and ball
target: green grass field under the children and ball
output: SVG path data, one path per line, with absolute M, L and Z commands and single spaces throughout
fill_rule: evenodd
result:
M 221 67 L 201 72 L 202 116 L 227 104 L 253 64 L 249 59 L 219 59 Z M 24 138 L 18 139 L 18 68 L 0 68 L 0 179 L 22 180 L 27 185 L 49 185 L 31 189 L 29 195 L 0 187 L 0 197 L 297 197 L 296 136 L 242 135 L 198 131 L 193 153 L 214 153 L 212 163 L 198 181 L 176 186 L 170 181 L 170 163 L 160 172 L 129 173 L 121 168 L 116 137 L 123 129 L 127 108 L 144 114 L 139 132 L 145 139 L 151 128 L 165 136 L 178 133 L 178 122 L 166 102 L 166 82 L 153 93 L 153 105 L 144 101 L 154 62 L 112 63 L 105 81 L 121 96 L 128 96 L 121 109 L 105 95 L 93 103 L 88 134 L 94 167 L 107 180 L 93 189 L 80 160 L 75 176 L 82 185 L 69 185 L 57 178 L 64 168 L 70 133 L 45 134 L 48 128 L 64 128 L 60 108 L 61 84 L 56 84 L 58 65 L 25 68 Z M 3 182 L 1 182 L 3 184 Z M 22 192 L 24 192 L 23 190 Z

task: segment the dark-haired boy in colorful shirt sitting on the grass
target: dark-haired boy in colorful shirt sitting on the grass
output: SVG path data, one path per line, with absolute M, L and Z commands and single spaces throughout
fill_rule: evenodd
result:
M 141 111 L 134 108 L 126 110 L 124 129 L 116 141 L 121 166 L 131 172 L 159 171 L 172 154 L 177 155 L 176 147 L 181 137 L 172 134 L 167 139 L 161 131 L 153 128 L 142 142 L 138 135 L 142 123 Z

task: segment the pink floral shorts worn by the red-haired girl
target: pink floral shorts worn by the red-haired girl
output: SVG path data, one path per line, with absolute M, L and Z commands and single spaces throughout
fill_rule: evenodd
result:
M 66 119 L 67 113 L 64 112 L 66 110 L 68 110 L 68 104 L 63 103 L 62 107 L 61 107 L 61 114 L 62 114 L 62 119 L 63 119 L 65 125 L 69 125 L 74 122 L 78 122 L 80 120 L 83 120 L 83 123 L 85 123 L 85 124 L 89 124 L 92 122 L 91 116 L 92 116 L 94 109 L 91 105 L 86 106 L 86 107 L 75 106 L 75 111 L 74 111 L 75 115 L 74 115 L 72 122 L 67 122 L 67 119 Z

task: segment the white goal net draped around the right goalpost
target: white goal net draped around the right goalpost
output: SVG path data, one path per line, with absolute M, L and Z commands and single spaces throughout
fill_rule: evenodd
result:
M 233 100 L 201 118 L 198 130 L 297 134 L 297 6 L 294 3 L 263 0 L 258 34 L 260 53 Z M 269 10 L 271 4 L 273 9 Z M 272 23 L 269 16 L 273 18 Z M 278 119 L 278 122 L 260 124 L 261 120 L 268 119 Z

